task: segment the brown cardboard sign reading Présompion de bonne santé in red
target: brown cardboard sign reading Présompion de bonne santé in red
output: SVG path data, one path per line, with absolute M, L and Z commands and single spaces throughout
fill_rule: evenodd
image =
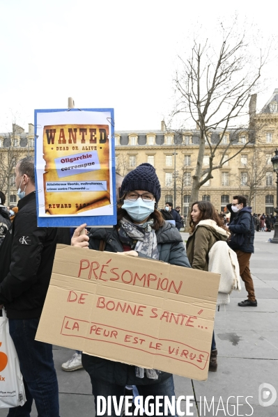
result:
M 218 274 L 58 245 L 36 339 L 205 380 L 218 287 Z

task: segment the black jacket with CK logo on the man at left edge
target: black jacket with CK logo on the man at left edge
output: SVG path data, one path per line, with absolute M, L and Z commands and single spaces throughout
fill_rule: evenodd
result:
M 35 192 L 19 211 L 0 248 L 0 304 L 11 319 L 40 317 L 52 273 L 56 228 L 38 228 Z

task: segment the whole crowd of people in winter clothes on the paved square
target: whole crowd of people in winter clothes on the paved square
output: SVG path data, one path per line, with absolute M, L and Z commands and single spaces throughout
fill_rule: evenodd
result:
M 16 207 L 18 212 L 15 214 L 15 208 L 12 210 L 13 223 L 9 218 L 11 213 L 4 207 L 5 196 L 0 194 L 0 308 L 6 309 L 10 336 L 17 349 L 26 403 L 10 409 L 8 417 L 30 416 L 33 400 L 39 416 L 59 417 L 59 391 L 52 346 L 38 342 L 35 335 L 52 273 L 56 243 L 63 240 L 65 233 L 57 228 L 36 226 L 33 158 L 26 157 L 18 162 L 15 173 L 20 201 Z M 161 187 L 155 168 L 141 164 L 120 182 L 117 186 L 117 224 L 113 228 L 91 228 L 85 234 L 86 225 L 83 224 L 72 230 L 72 246 L 168 262 L 184 267 L 186 278 L 186 268 L 208 271 L 211 249 L 216 242 L 224 242 L 236 253 L 240 276 L 247 290 L 247 299 L 238 306 L 257 306 L 249 269 L 256 224 L 245 196 L 234 196 L 227 205 L 231 213 L 229 223 L 226 223 L 224 214 L 217 213 L 212 203 L 194 202 L 190 211 L 190 236 L 185 248 L 179 232 L 184 222 L 180 207 L 174 209 L 169 201 L 158 210 Z M 70 233 L 66 233 L 70 239 Z M 78 351 L 62 365 L 63 370 L 68 371 L 82 367 L 91 378 L 97 414 L 97 396 L 107 398 L 115 395 L 119 399 L 125 394 L 125 386 L 136 386 L 144 398 L 148 395 L 162 395 L 163 398 L 175 395 L 173 375 L 160 370 L 109 361 Z M 214 333 L 209 370 L 217 370 Z M 115 415 L 113 411 L 112 416 Z

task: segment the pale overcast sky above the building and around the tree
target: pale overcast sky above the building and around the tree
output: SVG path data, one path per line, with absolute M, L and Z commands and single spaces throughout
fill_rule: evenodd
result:
M 192 28 L 210 36 L 208 26 L 235 12 L 263 39 L 277 36 L 270 4 L 251 1 L 0 0 L 0 132 L 13 120 L 27 130 L 34 109 L 65 108 L 68 97 L 79 108 L 114 107 L 116 130 L 160 129 Z M 275 56 L 258 108 L 278 88 Z

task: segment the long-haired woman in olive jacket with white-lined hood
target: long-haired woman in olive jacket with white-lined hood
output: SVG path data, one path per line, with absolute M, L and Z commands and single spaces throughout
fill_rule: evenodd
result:
M 226 241 L 229 233 L 215 207 L 209 201 L 196 201 L 192 204 L 190 214 L 190 236 L 187 239 L 186 251 L 190 265 L 194 269 L 208 271 L 208 253 L 215 242 Z M 210 352 L 209 370 L 217 371 L 217 349 L 215 333 Z

